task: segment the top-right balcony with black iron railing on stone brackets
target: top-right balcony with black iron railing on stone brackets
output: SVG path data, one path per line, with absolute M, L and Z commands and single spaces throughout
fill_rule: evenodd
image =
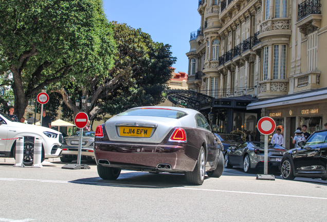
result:
M 320 28 L 321 23 L 320 0 L 306 0 L 298 5 L 298 22 L 295 24 L 305 35 Z

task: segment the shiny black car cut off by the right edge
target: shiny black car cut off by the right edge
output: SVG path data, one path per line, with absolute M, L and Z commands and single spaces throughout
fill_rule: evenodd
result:
M 287 151 L 281 162 L 284 179 L 296 176 L 327 179 L 327 130 L 313 133 L 300 147 Z

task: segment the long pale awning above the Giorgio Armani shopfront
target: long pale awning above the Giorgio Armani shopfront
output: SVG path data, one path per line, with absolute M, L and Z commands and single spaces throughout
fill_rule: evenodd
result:
M 247 109 L 269 108 L 327 99 L 327 87 L 250 103 Z

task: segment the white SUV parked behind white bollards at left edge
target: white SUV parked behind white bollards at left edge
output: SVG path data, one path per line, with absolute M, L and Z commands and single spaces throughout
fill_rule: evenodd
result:
M 0 157 L 15 157 L 16 140 L 13 138 L 17 137 L 24 137 L 25 165 L 33 164 L 34 137 L 42 140 L 41 161 L 61 154 L 63 136 L 60 132 L 43 126 L 14 122 L 0 112 L 0 139 L 7 139 L 0 140 Z

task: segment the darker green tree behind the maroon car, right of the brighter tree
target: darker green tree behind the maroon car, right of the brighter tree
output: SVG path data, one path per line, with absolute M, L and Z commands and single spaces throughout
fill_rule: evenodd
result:
M 75 105 L 80 95 L 91 102 L 90 107 L 83 107 L 90 120 L 162 101 L 161 92 L 167 88 L 171 65 L 176 61 L 171 57 L 170 45 L 153 42 L 141 29 L 112 24 L 117 45 L 114 66 L 105 73 L 89 72 L 83 78 L 70 79 L 54 90 L 62 95 L 74 116 L 82 108 Z

